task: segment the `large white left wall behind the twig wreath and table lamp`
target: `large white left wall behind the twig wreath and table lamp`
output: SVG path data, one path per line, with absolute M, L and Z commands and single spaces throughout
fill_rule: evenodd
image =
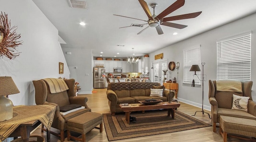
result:
M 0 57 L 0 76 L 11 76 L 20 93 L 9 95 L 14 105 L 34 105 L 32 80 L 42 78 L 69 78 L 64 64 L 64 74 L 58 73 L 58 63 L 65 62 L 58 46 L 58 30 L 44 16 L 32 0 L 0 0 L 0 11 L 8 14 L 12 26 L 18 26 L 23 44 L 14 60 Z

